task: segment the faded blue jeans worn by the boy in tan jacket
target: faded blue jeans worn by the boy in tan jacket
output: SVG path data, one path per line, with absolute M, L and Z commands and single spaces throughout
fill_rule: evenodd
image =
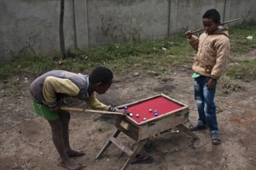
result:
M 218 123 L 216 117 L 216 106 L 214 95 L 216 92 L 216 84 L 213 90 L 206 87 L 206 83 L 210 77 L 199 76 L 194 80 L 195 101 L 199 112 L 199 124 L 206 125 L 209 131 L 218 132 Z

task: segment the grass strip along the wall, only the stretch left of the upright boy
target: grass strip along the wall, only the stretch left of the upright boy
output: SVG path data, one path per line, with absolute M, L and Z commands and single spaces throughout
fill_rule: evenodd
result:
M 12 62 L 0 66 L 0 79 L 10 76 L 39 76 L 49 70 L 68 70 L 88 73 L 97 65 L 109 66 L 118 73 L 168 72 L 192 61 L 192 48 L 184 33 L 165 39 L 145 39 L 134 42 L 108 43 L 99 48 L 72 49 L 67 59 L 60 53 L 47 56 L 16 56 Z

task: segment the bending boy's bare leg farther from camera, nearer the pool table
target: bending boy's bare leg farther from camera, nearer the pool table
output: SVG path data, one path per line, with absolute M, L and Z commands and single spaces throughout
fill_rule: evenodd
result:
M 85 155 L 84 151 L 78 151 L 78 150 L 73 150 L 71 149 L 71 146 L 69 144 L 69 121 L 71 119 L 71 115 L 70 114 L 59 114 L 60 119 L 62 121 L 63 124 L 63 139 L 64 139 L 64 147 L 65 147 L 65 151 L 67 152 L 68 156 L 81 156 L 81 155 Z

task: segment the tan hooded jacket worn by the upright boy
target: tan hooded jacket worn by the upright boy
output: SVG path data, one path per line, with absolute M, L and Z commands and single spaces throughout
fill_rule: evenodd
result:
M 192 36 L 190 45 L 197 50 L 192 70 L 202 76 L 219 79 L 226 70 L 230 56 L 230 39 L 227 28 L 218 29 L 211 35 L 203 32 L 199 37 Z

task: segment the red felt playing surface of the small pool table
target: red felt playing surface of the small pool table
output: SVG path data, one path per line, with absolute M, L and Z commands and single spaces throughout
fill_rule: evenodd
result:
M 150 100 L 141 101 L 138 104 L 128 106 L 126 110 L 133 113 L 131 118 L 134 121 L 140 123 L 144 121 L 144 118 L 146 118 L 146 120 L 150 120 L 156 117 L 154 114 L 155 110 L 157 110 L 157 115 L 160 116 L 173 110 L 177 110 L 181 107 L 181 105 L 176 104 L 175 102 L 168 100 L 165 97 L 155 97 Z M 151 112 L 149 111 L 150 109 L 152 110 Z M 137 114 L 139 114 L 139 117 L 136 116 Z

